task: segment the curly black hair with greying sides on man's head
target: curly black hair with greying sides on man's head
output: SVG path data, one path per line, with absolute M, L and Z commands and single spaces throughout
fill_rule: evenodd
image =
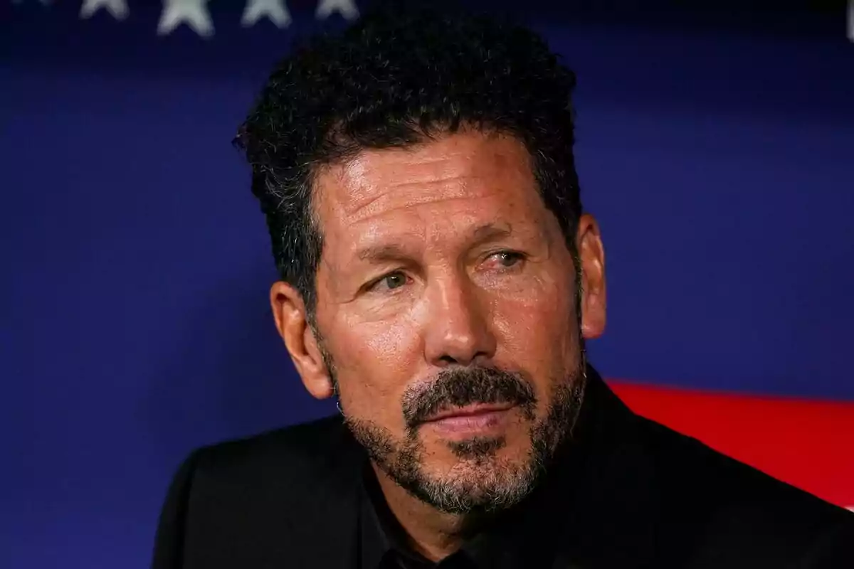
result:
M 312 38 L 272 73 L 235 144 L 252 166 L 278 272 L 309 318 L 323 236 L 319 166 L 471 127 L 517 136 L 566 243 L 582 213 L 572 153 L 575 74 L 524 27 L 480 15 L 383 9 Z

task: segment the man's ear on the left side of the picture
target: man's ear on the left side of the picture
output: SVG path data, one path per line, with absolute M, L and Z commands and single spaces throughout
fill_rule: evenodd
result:
M 330 398 L 332 378 L 317 338 L 308 325 L 306 305 L 301 294 L 286 282 L 276 282 L 270 289 L 270 305 L 276 328 L 300 374 L 302 385 L 314 398 Z

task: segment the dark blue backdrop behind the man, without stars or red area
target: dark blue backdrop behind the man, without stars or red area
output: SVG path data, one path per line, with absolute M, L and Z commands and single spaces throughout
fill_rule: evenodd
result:
M 521 16 L 578 74 L 605 235 L 594 363 L 854 400 L 843 11 L 536 4 Z M 158 3 L 130 0 L 124 22 L 0 4 L 0 567 L 147 566 L 188 450 L 331 412 L 273 330 L 266 228 L 230 145 L 290 41 L 342 25 L 289 5 L 289 29 L 244 30 L 242 4 L 214 2 L 205 40 L 157 37 Z

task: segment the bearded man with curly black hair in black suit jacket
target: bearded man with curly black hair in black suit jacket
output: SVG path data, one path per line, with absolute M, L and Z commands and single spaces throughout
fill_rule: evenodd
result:
M 575 78 L 524 29 L 371 15 L 238 135 L 278 331 L 340 415 L 180 468 L 156 569 L 854 567 L 851 515 L 634 415 L 588 366 Z

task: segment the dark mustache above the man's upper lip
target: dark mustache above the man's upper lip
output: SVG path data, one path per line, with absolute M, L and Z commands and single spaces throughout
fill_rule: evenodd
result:
M 430 383 L 404 393 L 403 418 L 412 431 L 444 409 L 472 404 L 515 404 L 530 414 L 536 397 L 522 374 L 494 368 L 443 369 Z

